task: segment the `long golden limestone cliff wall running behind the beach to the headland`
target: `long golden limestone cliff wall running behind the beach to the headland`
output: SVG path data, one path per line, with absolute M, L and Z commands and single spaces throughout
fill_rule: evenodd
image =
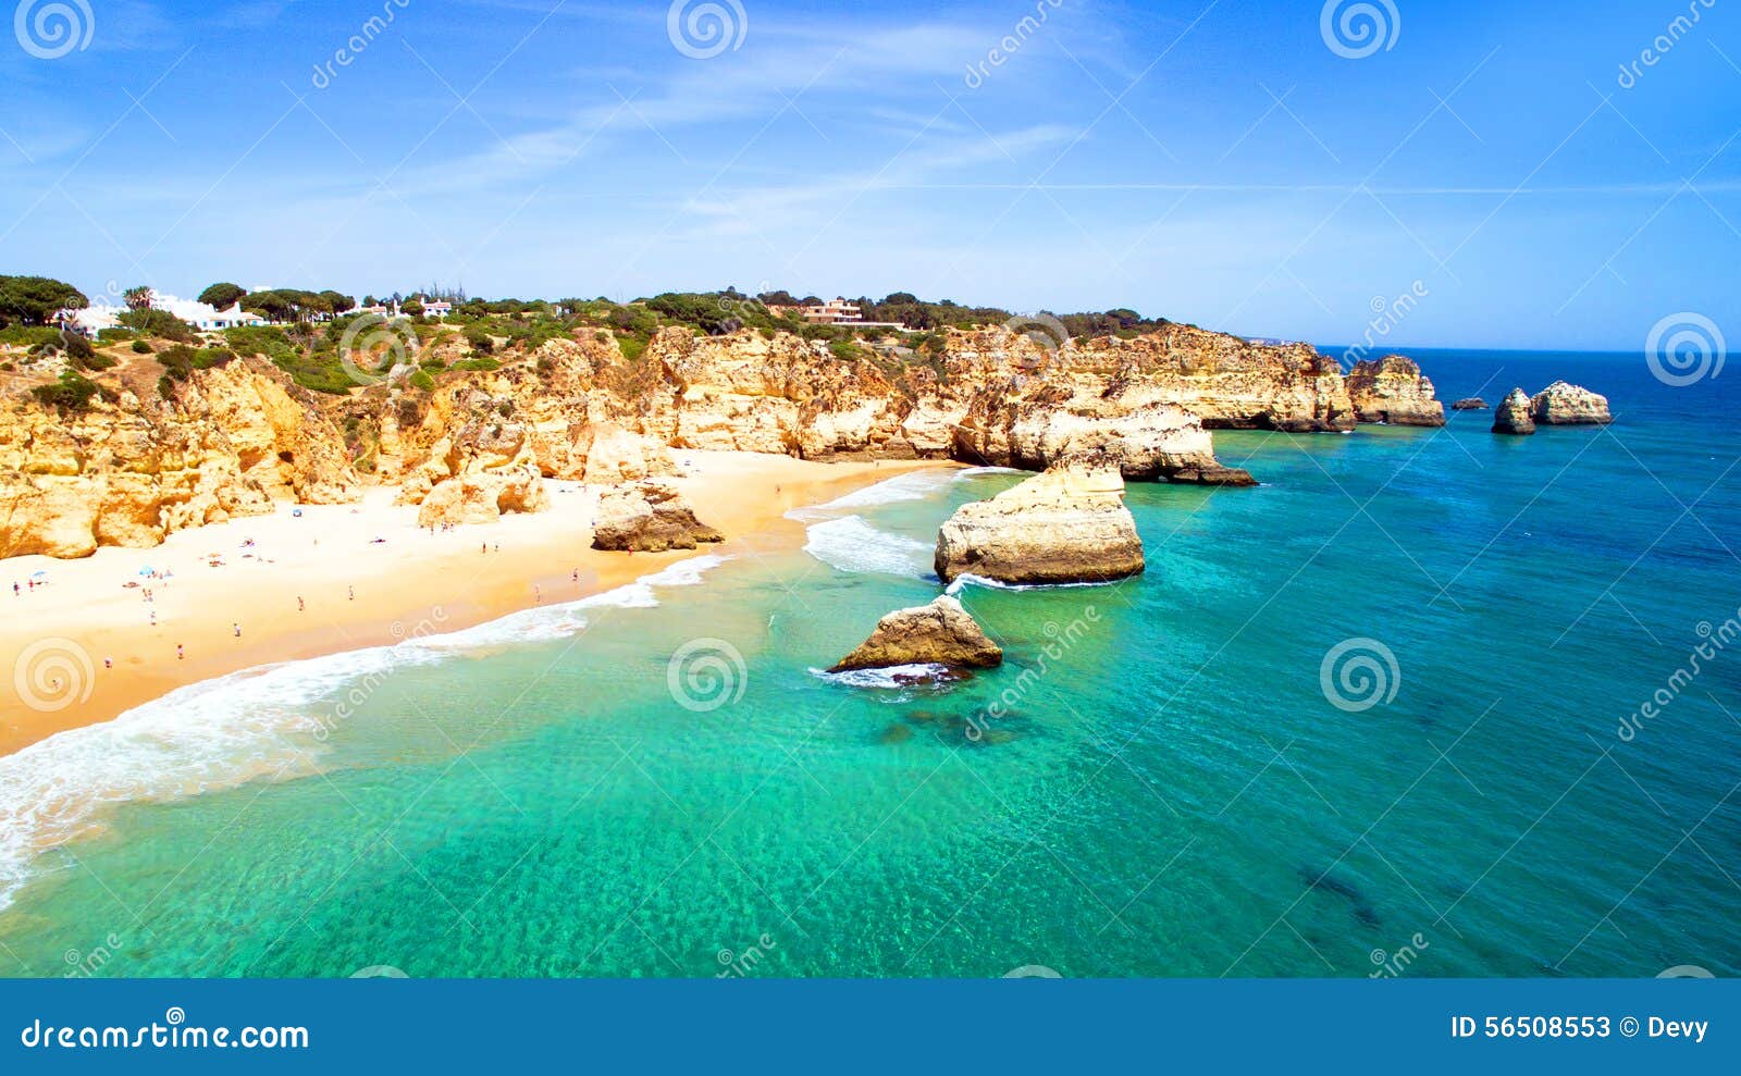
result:
M 355 500 L 366 486 L 397 488 L 427 522 L 494 519 L 538 510 L 538 477 L 670 474 L 669 449 L 1024 468 L 1093 456 L 1130 481 L 1250 484 L 1215 460 L 1212 430 L 1356 420 L 1335 362 L 1302 343 L 1179 324 L 1057 346 L 1003 327 L 918 343 L 836 353 L 790 333 L 667 326 L 625 352 L 611 331 L 575 327 L 498 345 L 491 369 L 432 366 L 435 388 L 385 380 L 348 393 L 299 388 L 263 357 L 193 369 L 160 392 L 157 355 L 129 353 L 91 374 L 104 397 L 71 416 L 30 399 L 49 376 L 31 367 L 0 376 L 0 554 L 151 545 L 277 500 Z M 454 329 L 421 357 L 474 355 Z M 1422 392 L 1424 378 L 1408 402 Z

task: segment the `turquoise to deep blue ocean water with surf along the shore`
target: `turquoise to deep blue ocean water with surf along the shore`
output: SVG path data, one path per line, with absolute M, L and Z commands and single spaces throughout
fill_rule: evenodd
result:
M 188 688 L 0 759 L 0 968 L 1741 973 L 1741 390 L 1417 357 L 1616 423 L 1217 434 L 1260 488 L 1132 486 L 1119 585 L 959 587 L 1006 663 L 947 688 L 820 670 L 1013 472 Z

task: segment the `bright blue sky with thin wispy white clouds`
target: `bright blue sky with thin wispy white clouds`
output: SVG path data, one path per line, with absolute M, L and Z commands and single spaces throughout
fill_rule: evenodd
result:
M 723 40 L 679 0 L 681 49 L 672 3 L 84 0 L 35 56 L 52 2 L 0 37 L 0 272 L 92 298 L 905 289 L 1337 343 L 1415 289 L 1402 345 L 1741 340 L 1736 0 L 1370 0 L 1370 56 L 1358 0 L 714 0 Z

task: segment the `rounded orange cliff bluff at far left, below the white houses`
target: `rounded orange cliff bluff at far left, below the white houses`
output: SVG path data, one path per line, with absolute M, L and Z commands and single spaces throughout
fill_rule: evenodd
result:
M 157 376 L 117 371 L 77 413 L 30 397 L 0 406 L 0 557 L 151 547 L 279 500 L 362 494 L 339 430 L 275 367 L 193 371 L 169 395 Z

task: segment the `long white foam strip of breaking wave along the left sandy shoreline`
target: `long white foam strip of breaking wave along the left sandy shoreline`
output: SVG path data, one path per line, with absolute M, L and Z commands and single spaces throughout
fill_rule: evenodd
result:
M 350 688 L 366 686 L 373 693 L 395 670 L 435 665 L 453 653 L 571 636 L 587 625 L 587 609 L 653 608 L 655 588 L 700 583 L 703 573 L 724 561 L 691 557 L 594 597 L 524 609 L 458 632 L 413 632 L 395 646 L 186 684 L 113 721 L 56 733 L 3 756 L 0 909 L 28 881 L 38 855 L 101 827 L 110 804 L 315 773 L 333 709 Z

